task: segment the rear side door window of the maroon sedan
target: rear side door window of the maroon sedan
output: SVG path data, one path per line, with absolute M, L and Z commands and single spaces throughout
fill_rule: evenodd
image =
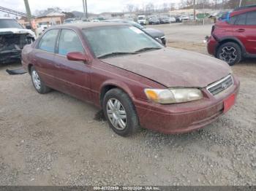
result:
M 42 39 L 40 39 L 38 44 L 38 49 L 45 50 L 47 52 L 54 52 L 58 33 L 59 33 L 58 29 L 47 31 L 44 34 L 44 36 L 42 36 Z

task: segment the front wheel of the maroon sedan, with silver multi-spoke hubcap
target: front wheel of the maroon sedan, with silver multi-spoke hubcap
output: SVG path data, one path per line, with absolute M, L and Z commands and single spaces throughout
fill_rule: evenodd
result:
M 140 128 L 135 106 L 124 91 L 118 88 L 109 90 L 102 107 L 110 128 L 119 136 L 130 136 Z

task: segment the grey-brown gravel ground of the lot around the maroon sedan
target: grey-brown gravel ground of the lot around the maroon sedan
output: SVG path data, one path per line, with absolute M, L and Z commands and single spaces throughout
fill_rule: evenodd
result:
M 151 26 L 150 26 L 151 27 Z M 167 46 L 206 54 L 211 26 L 154 26 Z M 29 74 L 0 66 L 1 185 L 256 184 L 256 61 L 233 66 L 236 106 L 202 130 L 117 136 L 99 111 L 69 95 L 40 95 Z

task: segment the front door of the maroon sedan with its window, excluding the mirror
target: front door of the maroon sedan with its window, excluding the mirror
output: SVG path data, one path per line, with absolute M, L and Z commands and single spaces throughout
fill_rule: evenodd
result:
M 64 93 L 84 101 L 91 101 L 91 66 L 83 61 L 67 60 L 68 52 L 83 52 L 84 48 L 75 31 L 62 29 L 59 36 L 58 53 L 54 57 L 55 76 Z

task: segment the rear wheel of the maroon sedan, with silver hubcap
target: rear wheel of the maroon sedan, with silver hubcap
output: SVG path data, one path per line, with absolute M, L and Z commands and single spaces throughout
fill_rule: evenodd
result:
M 45 83 L 42 82 L 34 66 L 31 67 L 31 80 L 38 93 L 45 94 L 50 92 L 50 87 L 46 86 Z

